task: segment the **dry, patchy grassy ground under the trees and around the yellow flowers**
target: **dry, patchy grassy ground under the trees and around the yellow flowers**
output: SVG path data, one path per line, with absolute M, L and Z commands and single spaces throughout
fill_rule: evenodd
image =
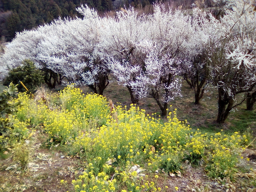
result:
M 0 83 L 0 92 L 4 86 Z M 61 89 L 58 87 L 57 89 Z M 81 87 L 83 93 L 90 92 L 88 87 Z M 187 120 L 192 129 L 200 129 L 202 132 L 209 134 L 224 130 L 226 133 L 240 131 L 241 133 L 250 129 L 256 132 L 256 115 L 255 111 L 246 111 L 245 105 L 238 106 L 232 112 L 225 124 L 217 124 L 215 122 L 217 116 L 217 94 L 214 89 L 210 89 L 205 93 L 200 105 L 194 105 L 194 92 L 186 83 L 182 87 L 182 98 L 176 99 L 172 104 L 172 110 L 178 109 L 177 117 L 179 120 Z M 116 82 L 110 83 L 104 92 L 104 96 L 113 100 L 113 103 L 121 103 L 123 106 L 131 104 L 130 95 L 125 87 L 118 85 Z M 241 95 L 239 96 L 241 98 Z M 141 109 L 145 109 L 146 113 L 160 114 L 160 110 L 152 98 L 141 99 L 138 103 Z M 71 181 L 83 171 L 83 159 L 79 156 L 67 156 L 65 148 L 60 146 L 47 147 L 45 143 L 47 135 L 42 130 L 37 130 L 31 140 L 31 156 L 28 167 L 25 171 L 17 170 L 15 167 L 8 169 L 10 166 L 17 165 L 12 159 L 12 151 L 0 155 L 0 192 L 2 191 L 73 191 L 74 188 Z M 235 190 L 229 191 L 245 191 L 243 188 L 247 185 L 251 178 L 247 172 L 250 168 L 255 169 L 256 150 L 255 147 L 246 149 L 243 153 L 244 157 L 250 157 L 250 162 L 241 160 L 240 170 L 237 183 L 229 182 L 229 185 L 236 185 Z M 184 173 L 182 177 L 168 177 L 167 191 L 174 191 L 175 186 L 179 186 L 178 191 L 224 191 L 225 186 L 220 187 L 217 180 L 209 180 L 206 177 L 204 167 L 191 166 L 183 164 Z M 247 175 L 246 175 L 247 174 Z M 65 179 L 66 185 L 61 185 L 60 180 Z M 165 178 L 163 178 L 165 180 Z M 249 179 L 250 181 L 250 179 Z M 221 182 L 220 182 L 221 183 Z M 248 184 L 251 185 L 251 184 Z M 223 190 L 222 190 L 223 189 Z M 226 189 L 225 189 L 226 191 Z M 256 191 L 256 190 L 254 190 Z

